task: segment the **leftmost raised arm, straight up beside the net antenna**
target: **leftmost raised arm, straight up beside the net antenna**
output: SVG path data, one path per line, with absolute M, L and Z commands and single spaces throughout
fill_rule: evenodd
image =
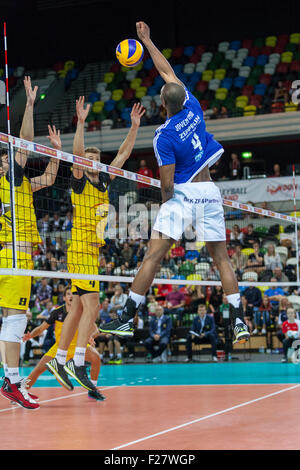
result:
M 33 108 L 34 102 L 36 99 L 36 93 L 38 87 L 35 86 L 32 88 L 31 86 L 31 79 L 28 76 L 24 77 L 24 88 L 26 92 L 26 108 L 22 120 L 22 126 L 20 130 L 20 138 L 24 140 L 29 140 L 30 142 L 33 141 L 34 137 L 34 125 L 33 125 Z M 16 152 L 15 160 L 16 162 L 24 168 L 27 162 L 28 152 L 22 150 Z

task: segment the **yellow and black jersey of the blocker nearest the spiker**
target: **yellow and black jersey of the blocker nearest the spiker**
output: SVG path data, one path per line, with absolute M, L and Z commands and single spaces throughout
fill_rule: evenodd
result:
M 72 251 L 88 253 L 89 247 L 104 245 L 109 183 L 110 177 L 106 173 L 99 174 L 97 183 L 92 182 L 86 175 L 77 179 L 72 174 L 73 227 L 70 247 Z

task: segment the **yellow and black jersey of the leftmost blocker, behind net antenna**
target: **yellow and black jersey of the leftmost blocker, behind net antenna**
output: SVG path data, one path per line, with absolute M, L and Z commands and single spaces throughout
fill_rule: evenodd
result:
M 15 184 L 15 221 L 16 240 L 41 243 L 37 229 L 36 215 L 33 205 L 33 193 L 30 180 L 26 178 L 24 168 L 14 163 Z M 2 213 L 0 216 L 0 244 L 12 242 L 11 195 L 9 174 L 0 178 L 0 200 Z

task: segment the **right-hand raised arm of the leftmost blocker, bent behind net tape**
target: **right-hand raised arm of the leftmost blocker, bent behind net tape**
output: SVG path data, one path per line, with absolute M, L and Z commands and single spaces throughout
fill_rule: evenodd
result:
M 48 126 L 48 130 L 48 139 L 50 140 L 52 147 L 56 150 L 61 150 L 60 131 L 56 130 L 55 126 Z M 40 176 L 36 176 L 35 178 L 31 178 L 30 183 L 32 191 L 35 192 L 40 189 L 47 188 L 48 186 L 52 186 L 55 183 L 58 167 L 59 160 L 54 157 L 50 158 L 44 173 Z

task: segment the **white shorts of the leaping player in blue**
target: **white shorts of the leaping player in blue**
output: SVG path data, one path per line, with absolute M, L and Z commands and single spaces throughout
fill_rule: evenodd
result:
M 197 241 L 226 240 L 224 210 L 219 188 L 212 182 L 174 185 L 174 196 L 161 205 L 153 230 L 179 240 L 193 236 Z

